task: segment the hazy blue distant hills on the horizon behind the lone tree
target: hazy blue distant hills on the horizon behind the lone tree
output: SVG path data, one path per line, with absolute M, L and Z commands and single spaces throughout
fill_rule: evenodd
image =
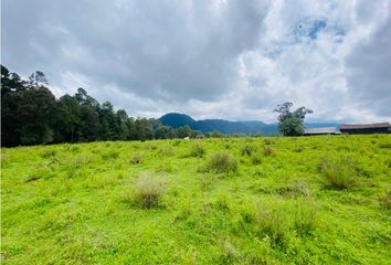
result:
M 224 135 L 230 134 L 243 134 L 243 135 L 252 135 L 252 134 L 263 134 L 263 135 L 272 135 L 277 134 L 278 128 L 277 124 L 265 124 L 263 121 L 257 120 L 246 120 L 246 121 L 230 121 L 225 119 L 201 119 L 194 120 L 192 117 L 186 114 L 178 113 L 169 113 L 159 118 L 159 120 L 163 125 L 171 126 L 173 128 L 178 128 L 180 126 L 188 125 L 193 130 L 200 130 L 202 132 L 209 132 L 213 130 L 219 130 Z M 332 127 L 338 126 L 337 124 L 305 124 L 307 128 L 315 127 Z

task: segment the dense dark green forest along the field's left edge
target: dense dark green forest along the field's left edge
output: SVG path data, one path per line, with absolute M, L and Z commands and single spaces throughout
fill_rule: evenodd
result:
M 202 136 L 189 126 L 172 128 L 158 119 L 129 117 L 84 88 L 57 99 L 47 86 L 40 71 L 25 81 L 1 65 L 1 146 Z

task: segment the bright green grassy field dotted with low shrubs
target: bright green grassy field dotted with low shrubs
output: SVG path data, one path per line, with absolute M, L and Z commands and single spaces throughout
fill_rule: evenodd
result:
M 391 135 L 2 149 L 2 264 L 390 264 Z

